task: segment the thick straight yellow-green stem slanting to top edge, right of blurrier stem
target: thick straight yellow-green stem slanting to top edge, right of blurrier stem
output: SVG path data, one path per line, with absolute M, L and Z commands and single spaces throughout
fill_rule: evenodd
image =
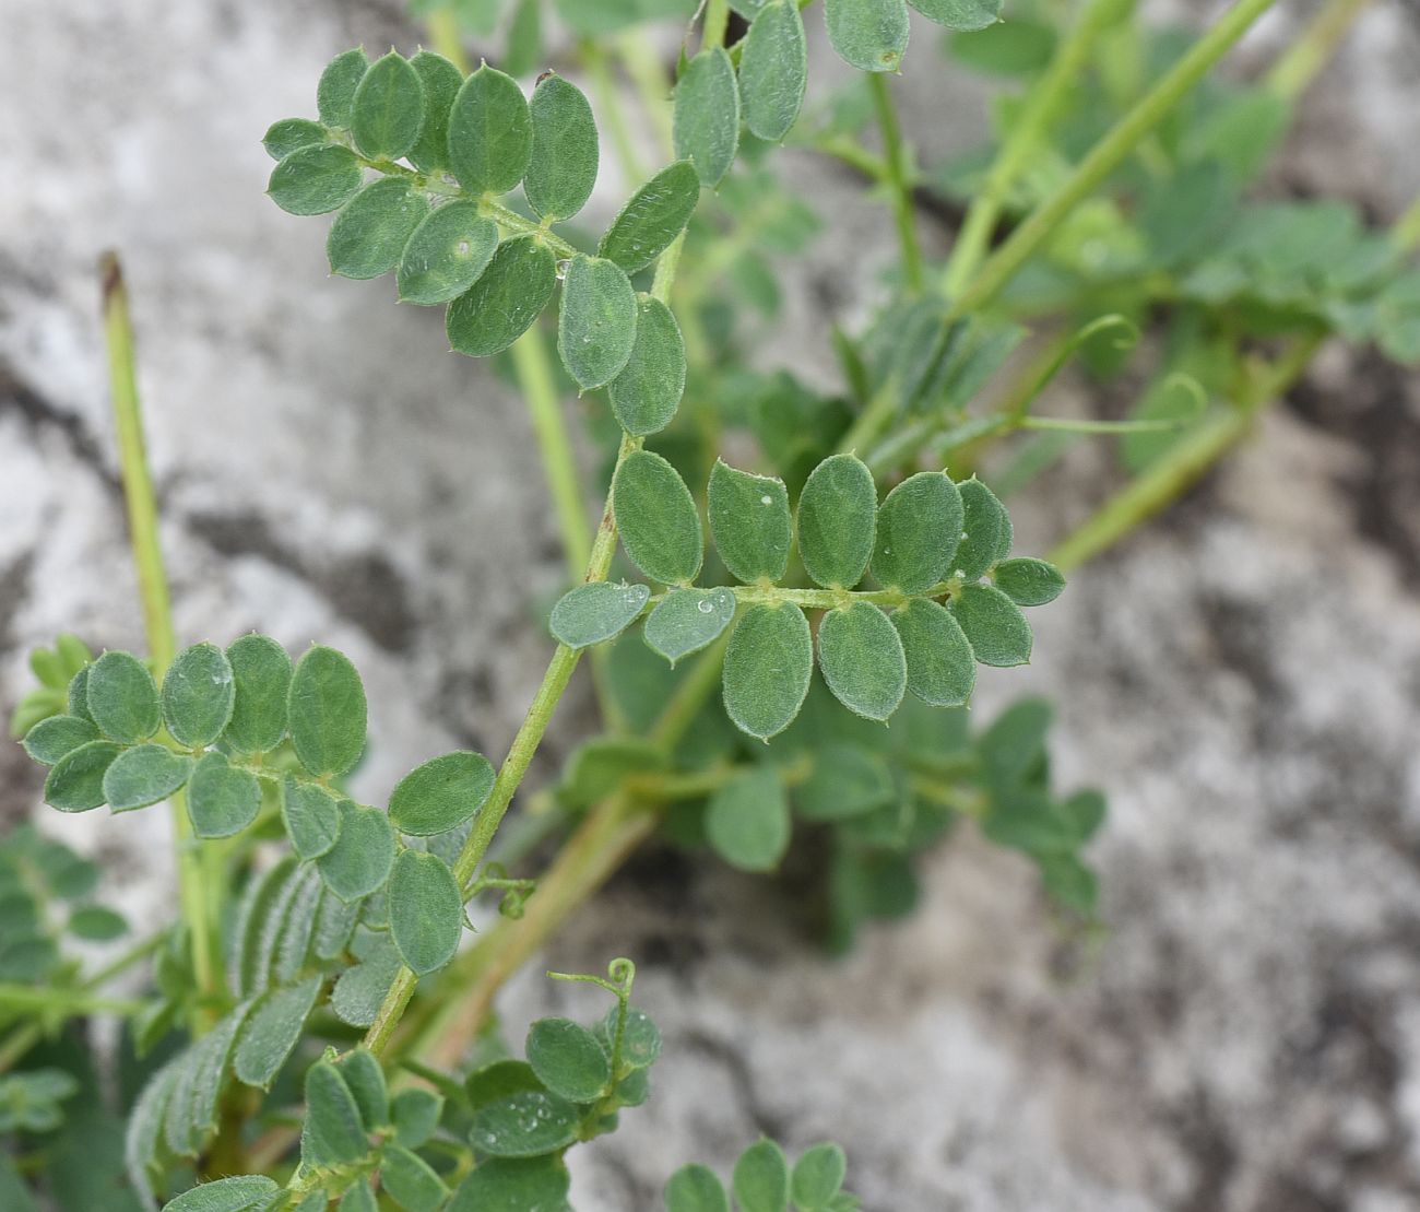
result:
M 947 311 L 947 323 L 980 311 L 1015 277 L 1056 226 L 1105 180 L 1203 75 L 1277 0 L 1238 0 L 1187 54 L 1091 149 L 1061 186 L 983 263 Z

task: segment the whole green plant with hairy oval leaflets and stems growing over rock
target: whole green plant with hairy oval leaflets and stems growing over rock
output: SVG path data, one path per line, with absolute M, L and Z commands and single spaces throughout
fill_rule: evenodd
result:
M 1179 496 L 1325 337 L 1420 359 L 1420 210 L 1382 234 L 1336 203 L 1241 202 L 1352 0 L 1254 88 L 1204 77 L 1269 0 L 1241 0 L 1189 44 L 1142 28 L 1127 0 L 1088 0 L 1064 27 L 1056 6 L 1022 3 L 998 23 L 993 0 L 913 0 L 951 30 L 954 60 L 1022 85 L 997 107 L 990 149 L 922 168 L 885 74 L 903 60 L 906 0 L 825 0 L 834 48 L 866 75 L 808 111 L 804 0 L 555 7 L 643 182 L 605 230 L 578 222 L 601 155 L 591 102 L 557 72 L 531 97 L 514 78 L 544 58 L 538 0 L 425 6 L 444 54 L 346 51 L 320 80 L 317 117 L 266 135 L 273 200 L 338 212 L 332 270 L 393 273 L 400 300 L 446 307 L 453 348 L 496 358 L 528 406 L 571 588 L 497 767 L 443 754 L 388 806 L 362 804 L 346 779 L 368 710 L 346 658 L 314 645 L 293 661 L 260 635 L 179 649 L 126 298 L 105 266 L 149 651 L 95 658 L 61 637 L 34 654 L 40 686 L 13 729 L 61 811 L 172 804 L 182 915 L 87 972 L 65 939 L 125 928 L 87 901 L 97 868 L 28 830 L 0 848 L 0 1131 L 18 1142 L 0 1165 L 6 1206 L 30 1206 L 31 1186 L 65 1208 L 565 1206 L 567 1151 L 646 1100 L 659 1034 L 630 1006 L 625 959 L 606 978 L 559 978 L 616 1005 L 592 1026 L 532 1023 L 525 1060 L 498 1054 L 491 1002 L 653 834 L 751 872 L 807 840 L 824 936 L 845 948 L 865 922 L 910 911 L 919 855 L 971 821 L 1035 864 L 1065 928 L 1098 929 L 1083 850 L 1105 801 L 1052 789 L 1048 703 L 973 733 L 977 666 L 1027 662 L 1024 610 L 1061 593 L 1061 568 Z M 653 18 L 689 23 L 669 105 L 639 33 Z M 500 21 L 511 74 L 469 72 L 460 23 L 488 37 Z M 640 161 L 613 71 L 643 97 L 660 166 Z M 818 226 L 775 172 L 780 142 L 882 186 L 899 244 L 878 314 L 834 332 L 836 395 L 753 368 L 758 320 L 746 317 L 772 317 L 781 298 L 767 263 Z M 919 244 L 916 190 L 966 206 L 944 266 Z M 554 300 L 555 362 L 540 324 Z M 1130 416 L 1037 413 L 1068 362 L 1120 378 L 1145 341 L 1156 365 Z M 571 392 L 596 394 L 586 438 L 608 492 L 595 529 L 559 406 Z M 727 429 L 755 439 L 755 469 L 720 458 Z M 988 460 L 1018 432 L 1024 443 Z M 1123 486 L 1051 561 L 1012 554 L 1003 497 L 1082 435 L 1120 439 Z M 506 823 L 584 652 L 601 730 Z M 498 915 L 460 949 L 466 907 L 486 892 Z M 143 996 L 105 993 L 149 958 Z M 78 1094 L 98 1087 L 74 1027 L 98 1013 L 125 1023 L 116 1105 Z M 82 1179 L 48 1162 L 85 1132 L 112 1134 L 119 1113 L 122 1158 L 101 1155 Z M 744 1212 L 853 1208 L 843 1169 L 836 1145 L 791 1168 L 761 1141 L 736 1165 L 734 1198 Z M 728 1206 L 703 1167 L 672 1176 L 666 1202 Z

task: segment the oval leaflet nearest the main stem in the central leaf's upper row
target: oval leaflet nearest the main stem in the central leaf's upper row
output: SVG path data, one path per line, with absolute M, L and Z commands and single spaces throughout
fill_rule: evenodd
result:
M 667 585 L 694 580 L 704 536 L 694 497 L 660 455 L 633 450 L 612 479 L 612 512 L 626 554 L 648 577 Z

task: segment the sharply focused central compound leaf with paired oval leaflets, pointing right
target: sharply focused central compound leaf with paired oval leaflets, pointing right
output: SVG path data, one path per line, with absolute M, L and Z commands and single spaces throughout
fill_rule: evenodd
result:
M 888 720 L 907 691 L 933 706 L 960 706 L 977 662 L 1028 661 L 1021 607 L 1044 605 L 1064 587 L 1051 564 L 1008 558 L 1010 516 L 976 479 L 958 486 L 922 472 L 879 504 L 866 465 L 834 455 L 809 473 L 791 514 L 782 480 L 721 462 L 706 503 L 736 587 L 694 584 L 704 557 L 694 497 L 666 459 L 632 452 L 612 483 L 618 531 L 630 560 L 669 588 L 653 598 L 643 584 L 579 585 L 554 607 L 551 631 L 582 648 L 645 614 L 648 645 L 674 664 L 733 627 L 726 710 L 765 740 L 788 727 L 808 693 L 815 642 L 805 607 L 824 610 L 816 649 L 828 688 L 858 715 Z M 795 546 L 821 588 L 781 587 Z M 869 574 L 880 588 L 858 590 Z

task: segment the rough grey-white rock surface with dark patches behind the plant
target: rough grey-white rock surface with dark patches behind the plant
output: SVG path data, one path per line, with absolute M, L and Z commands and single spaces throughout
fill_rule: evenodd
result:
M 559 577 L 521 408 L 443 354 L 436 314 L 327 280 L 322 224 L 261 196 L 260 131 L 310 108 L 334 51 L 413 41 L 399 6 L 0 16 L 0 700 L 61 627 L 141 642 L 95 325 L 94 264 L 116 246 L 183 638 L 346 649 L 371 689 L 371 797 L 452 745 L 501 752 Z M 1420 185 L 1417 55 L 1413 10 L 1377 4 L 1274 188 L 1394 215 Z M 944 87 L 906 77 L 924 155 L 980 112 Z M 852 182 L 797 171 L 831 226 L 774 352 L 812 374 L 825 311 L 861 311 L 889 249 Z M 653 1101 L 577 1159 L 578 1206 L 655 1208 L 674 1165 L 724 1171 L 761 1131 L 845 1141 L 870 1209 L 1420 1206 L 1417 442 L 1414 379 L 1328 351 L 1248 450 L 1037 617 L 1030 671 L 984 679 L 990 709 L 1051 695 L 1061 781 L 1109 791 L 1098 949 L 1061 938 L 1022 862 L 966 837 L 912 922 L 838 963 L 764 881 L 665 857 L 619 877 L 550 966 L 636 956 L 666 1059 Z M 1022 548 L 1083 516 L 1103 475 L 1082 448 L 1042 482 Z M 33 813 L 38 781 L 0 747 L 0 816 Z M 139 921 L 166 912 L 159 813 L 41 820 L 104 855 Z M 527 973 L 507 1023 L 586 996 Z

